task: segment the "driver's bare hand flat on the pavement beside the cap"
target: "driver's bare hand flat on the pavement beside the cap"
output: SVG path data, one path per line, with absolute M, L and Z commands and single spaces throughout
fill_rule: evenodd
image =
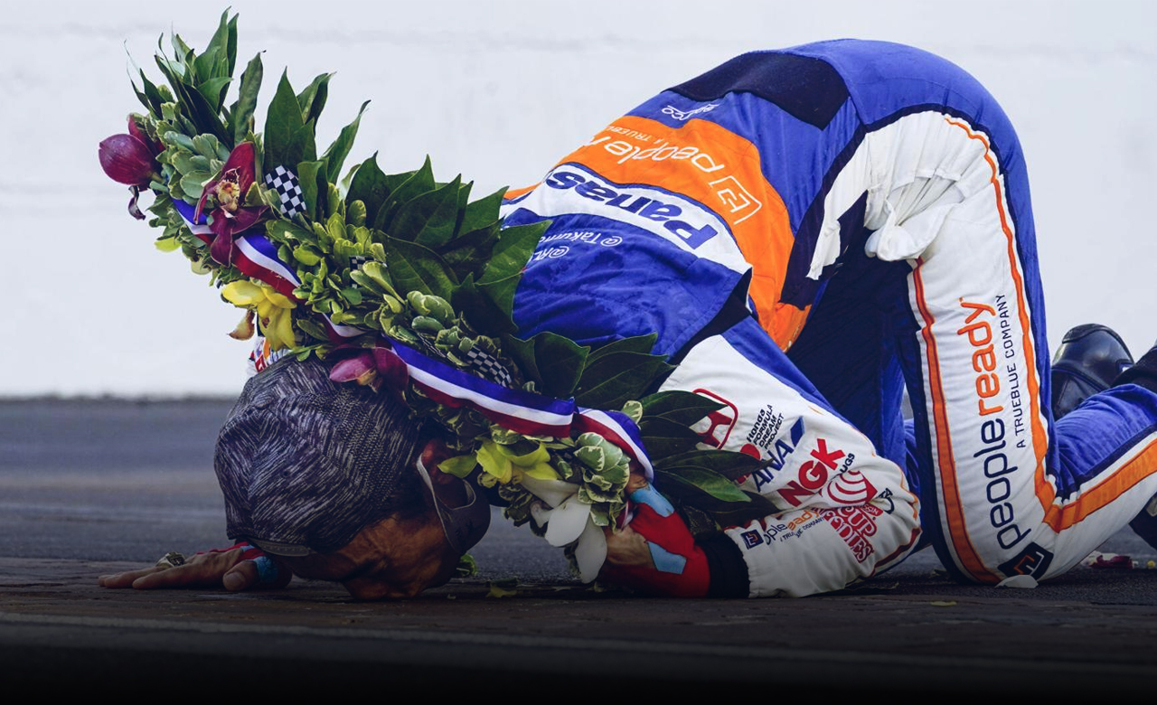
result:
M 111 575 L 101 575 L 97 583 L 106 588 L 139 590 L 165 588 L 221 588 L 239 592 L 257 588 L 281 588 L 293 573 L 272 556 L 245 543 L 228 549 L 198 553 L 178 566 L 153 566 Z

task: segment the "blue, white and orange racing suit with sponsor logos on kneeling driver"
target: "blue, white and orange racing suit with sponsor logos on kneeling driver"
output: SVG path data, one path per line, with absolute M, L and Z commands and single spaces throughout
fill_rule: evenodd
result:
M 740 56 L 503 208 L 552 220 L 523 335 L 657 333 L 679 363 L 662 389 L 724 405 L 705 442 L 768 462 L 742 486 L 781 512 L 725 530 L 752 596 L 842 588 L 921 529 L 961 579 L 1048 578 L 1157 493 L 1157 395 L 1051 418 L 1020 148 L 941 58 L 857 41 Z

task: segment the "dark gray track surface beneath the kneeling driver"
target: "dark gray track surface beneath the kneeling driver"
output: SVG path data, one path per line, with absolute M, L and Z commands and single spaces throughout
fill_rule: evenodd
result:
M 227 545 L 212 442 L 228 407 L 0 402 L 9 688 L 1003 699 L 1157 686 L 1157 570 L 1144 570 L 1157 551 L 1127 529 L 1101 550 L 1140 570 L 1082 566 L 1036 589 L 957 585 L 926 551 L 838 595 L 644 598 L 578 585 L 557 550 L 500 517 L 473 551 L 478 575 L 417 600 L 355 602 L 301 580 L 243 594 L 97 587 L 168 550 Z

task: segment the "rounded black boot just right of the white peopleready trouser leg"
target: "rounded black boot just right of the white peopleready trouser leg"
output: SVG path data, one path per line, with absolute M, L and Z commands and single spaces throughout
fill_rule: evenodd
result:
M 1130 365 L 1129 348 L 1105 325 L 1085 323 L 1064 333 L 1053 357 L 1053 418 L 1063 417 L 1098 391 L 1118 384 L 1118 377 Z

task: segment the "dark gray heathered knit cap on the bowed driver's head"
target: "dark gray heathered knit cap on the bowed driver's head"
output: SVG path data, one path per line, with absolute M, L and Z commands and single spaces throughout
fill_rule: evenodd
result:
M 421 421 L 395 396 L 329 373 L 286 358 L 245 384 L 213 463 L 231 538 L 282 556 L 329 553 L 425 501 L 414 470 Z

